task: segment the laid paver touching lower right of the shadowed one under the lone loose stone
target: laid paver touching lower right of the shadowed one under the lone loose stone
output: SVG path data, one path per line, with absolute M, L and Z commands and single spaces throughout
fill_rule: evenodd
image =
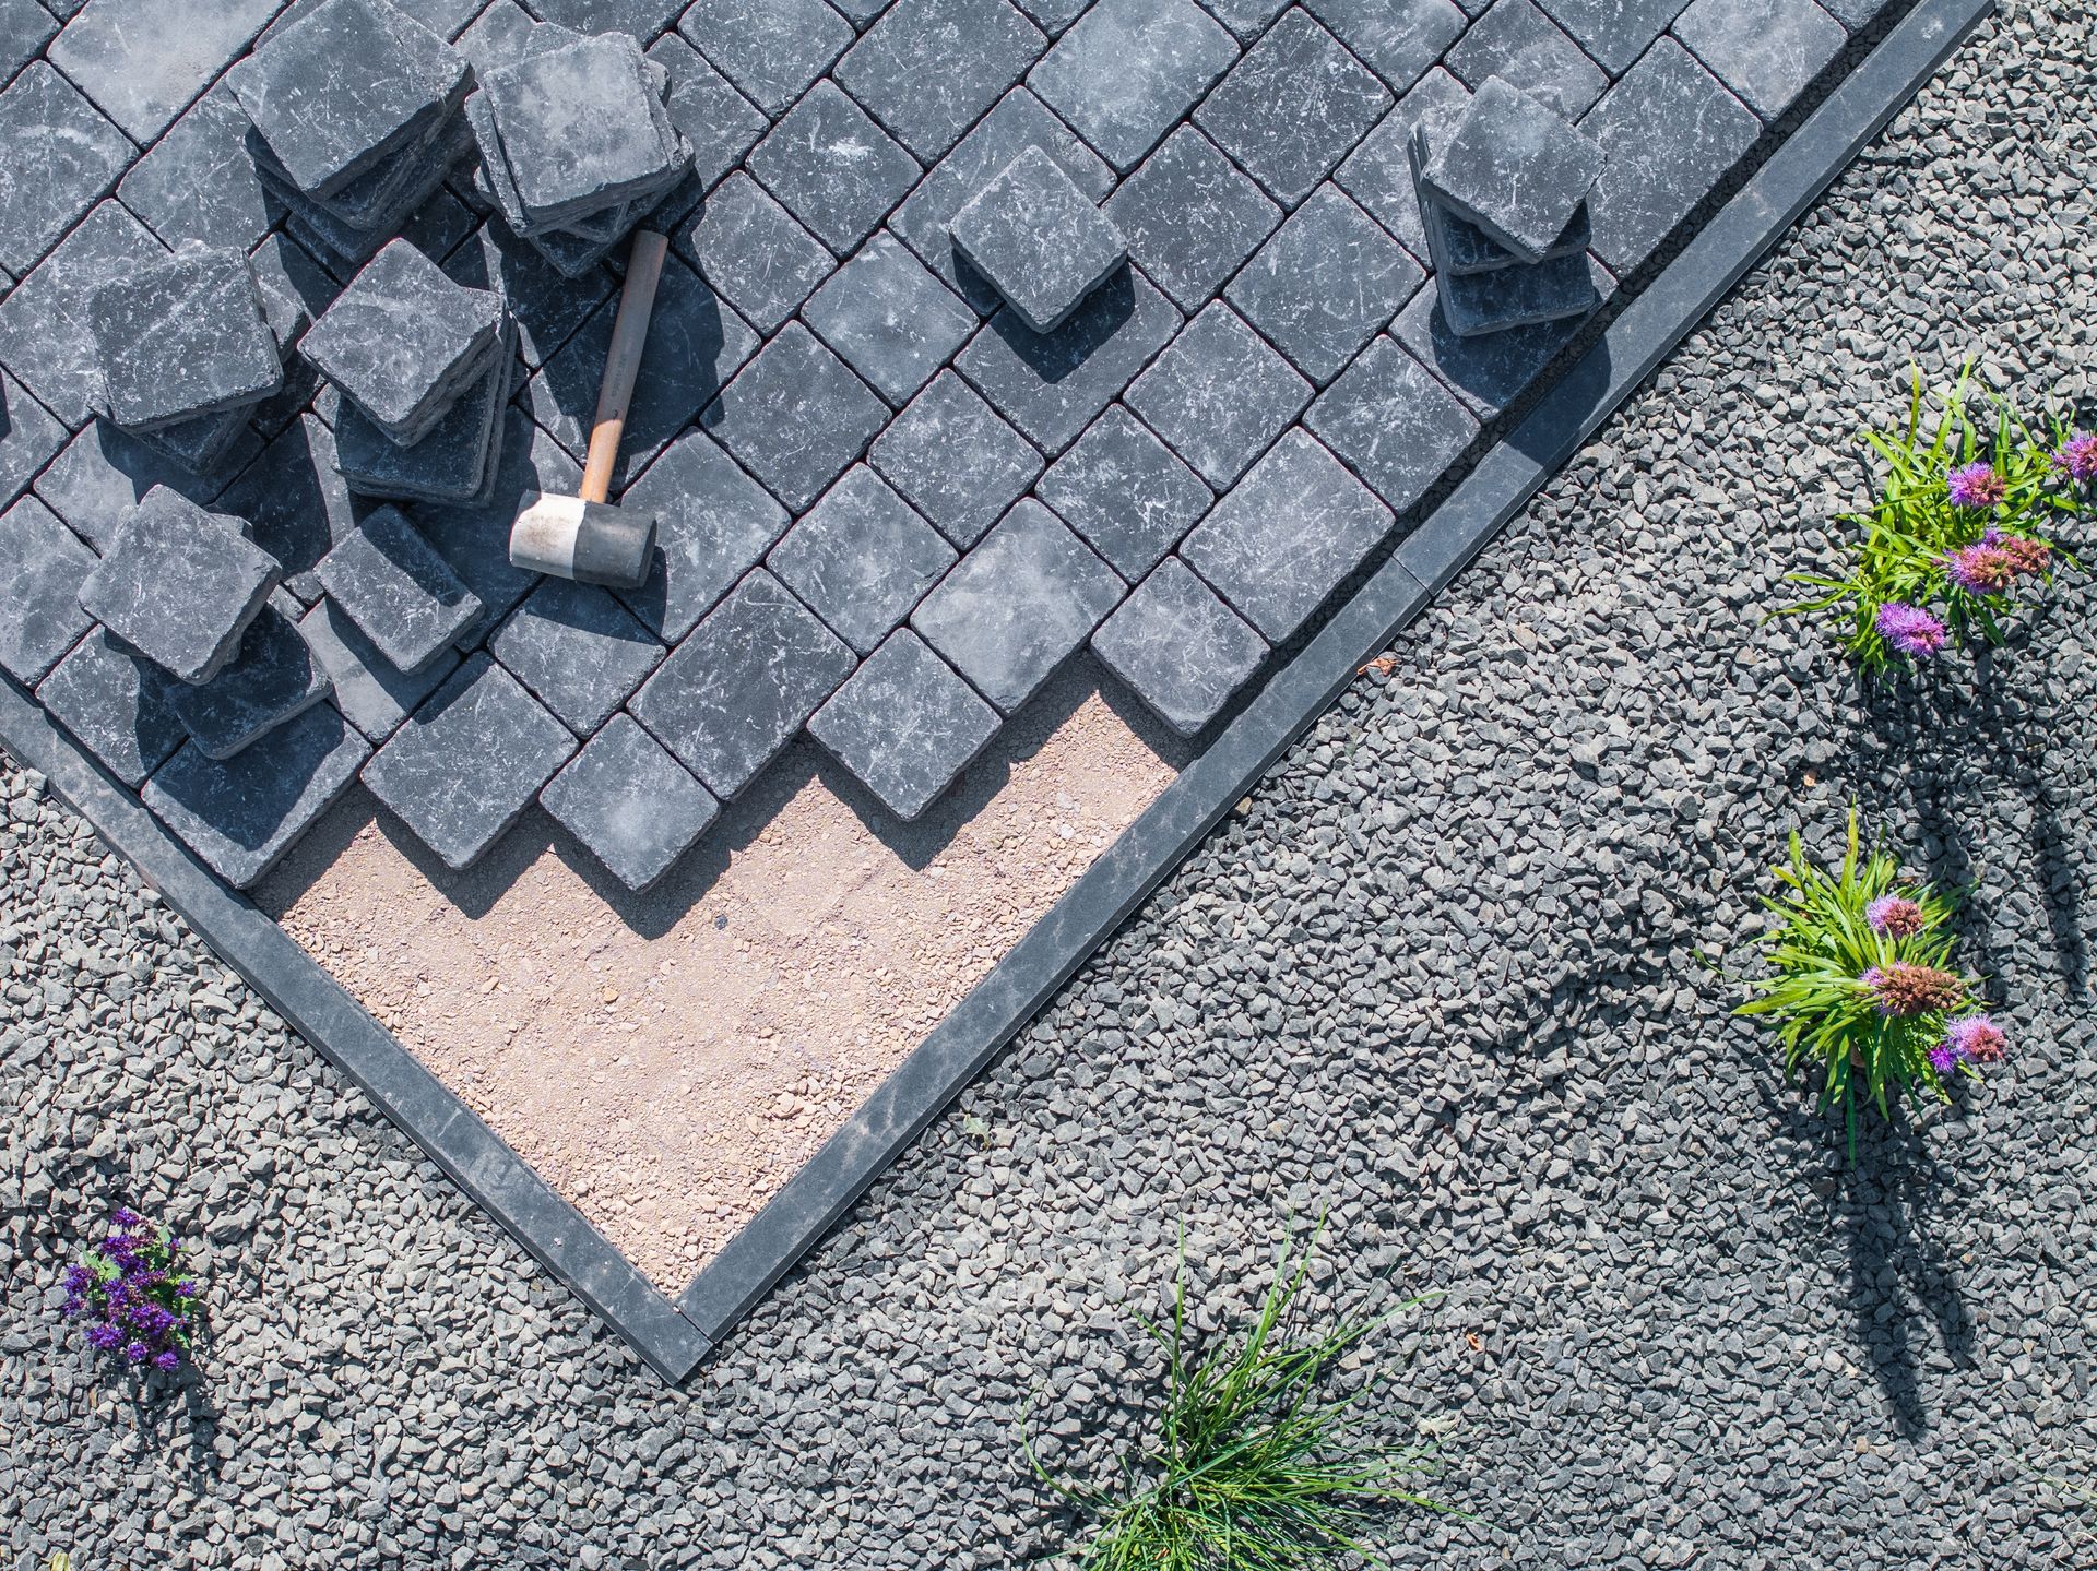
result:
M 1151 361 L 1124 403 L 1204 480 L 1229 489 L 1311 403 L 1311 384 L 1218 300 Z

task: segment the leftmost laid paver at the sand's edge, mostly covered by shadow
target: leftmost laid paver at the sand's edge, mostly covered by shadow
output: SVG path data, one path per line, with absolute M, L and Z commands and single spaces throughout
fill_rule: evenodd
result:
M 247 889 L 348 791 L 369 755 L 342 715 L 317 705 L 224 763 L 180 749 L 140 797 L 212 873 Z

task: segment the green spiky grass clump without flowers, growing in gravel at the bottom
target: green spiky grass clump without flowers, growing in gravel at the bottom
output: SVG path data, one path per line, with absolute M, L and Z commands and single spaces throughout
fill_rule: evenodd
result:
M 1281 1252 L 1250 1330 L 1216 1344 L 1189 1330 L 1181 1242 L 1172 1319 L 1137 1317 L 1164 1349 L 1166 1397 L 1141 1449 L 1122 1458 L 1120 1487 L 1065 1485 L 1025 1443 L 1036 1477 L 1099 1523 L 1084 1571 L 1306 1571 L 1348 1552 L 1369 1558 L 1363 1535 L 1390 1508 L 1449 1510 L 1409 1487 L 1434 1470 L 1434 1449 L 1374 1433 L 1363 1403 L 1382 1370 L 1336 1391 L 1350 1355 L 1424 1300 L 1302 1326 L 1321 1231 L 1300 1254 Z

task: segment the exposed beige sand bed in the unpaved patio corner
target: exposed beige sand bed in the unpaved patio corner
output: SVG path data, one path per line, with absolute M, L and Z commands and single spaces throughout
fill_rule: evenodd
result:
M 537 810 L 457 877 L 359 789 L 256 900 L 675 1292 L 1181 757 L 1080 665 L 918 824 L 803 738 L 633 898 Z

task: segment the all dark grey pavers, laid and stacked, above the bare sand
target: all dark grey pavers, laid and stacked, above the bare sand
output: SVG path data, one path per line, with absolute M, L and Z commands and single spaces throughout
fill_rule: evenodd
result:
M 1883 2 L 90 0 L 0 90 L 0 667 L 231 883 L 359 778 L 453 868 L 543 805 L 606 889 L 803 738 L 935 814 L 1069 661 L 1210 736 Z M 1602 162 L 1541 241 L 1415 178 L 1504 90 Z M 637 220 L 612 594 L 507 531 Z M 233 254 L 275 392 L 252 315 L 170 369 L 99 294 L 231 313 Z M 82 598 L 149 495 L 271 564 L 245 621 Z

